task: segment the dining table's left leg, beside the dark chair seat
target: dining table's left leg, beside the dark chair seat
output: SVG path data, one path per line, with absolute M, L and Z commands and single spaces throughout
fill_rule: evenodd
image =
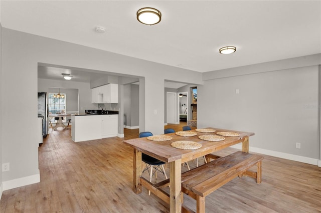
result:
M 140 184 L 140 176 L 142 173 L 142 166 L 141 166 L 141 151 L 138 151 L 134 148 L 133 152 L 133 190 L 136 194 L 141 193 L 142 188 Z

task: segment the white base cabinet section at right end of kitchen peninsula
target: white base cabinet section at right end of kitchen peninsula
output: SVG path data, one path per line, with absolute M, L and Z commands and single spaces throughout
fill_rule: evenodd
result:
M 118 132 L 118 114 L 101 115 L 101 134 L 104 137 L 117 136 Z

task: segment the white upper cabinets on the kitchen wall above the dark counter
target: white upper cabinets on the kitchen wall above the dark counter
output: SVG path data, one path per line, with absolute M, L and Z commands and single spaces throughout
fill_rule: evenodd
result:
M 92 103 L 118 103 L 118 84 L 109 83 L 91 89 Z

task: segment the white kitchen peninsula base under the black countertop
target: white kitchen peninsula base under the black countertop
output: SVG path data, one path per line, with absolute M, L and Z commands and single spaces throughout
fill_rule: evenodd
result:
M 118 133 L 117 114 L 71 114 L 71 138 L 74 142 L 114 137 Z

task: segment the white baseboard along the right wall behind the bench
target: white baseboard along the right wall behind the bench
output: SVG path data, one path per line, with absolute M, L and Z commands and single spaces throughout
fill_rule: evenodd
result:
M 231 147 L 242 149 L 242 144 L 236 144 Z M 304 162 L 304 163 L 317 165 L 317 166 L 321 167 L 321 163 L 320 163 L 321 160 L 319 160 L 319 159 L 304 157 L 304 156 L 295 155 L 295 154 L 284 153 L 284 152 L 280 152 L 280 151 L 273 151 L 273 150 L 268 150 L 268 149 L 264 149 L 264 148 L 257 148 L 257 147 L 252 147 L 252 146 L 249 147 L 249 151 L 260 153 L 260 154 L 266 154 L 266 155 L 270 155 L 270 156 L 274 156 L 274 157 L 280 157 L 280 158 L 284 158 L 284 159 L 294 160 L 294 161 L 298 161 L 298 162 Z

